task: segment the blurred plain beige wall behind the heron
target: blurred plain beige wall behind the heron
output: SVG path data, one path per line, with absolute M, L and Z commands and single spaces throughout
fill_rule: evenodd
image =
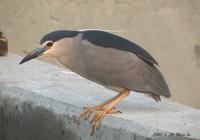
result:
M 26 55 L 47 32 L 83 28 L 141 45 L 159 62 L 171 100 L 200 108 L 200 0 L 0 0 L 11 53 Z

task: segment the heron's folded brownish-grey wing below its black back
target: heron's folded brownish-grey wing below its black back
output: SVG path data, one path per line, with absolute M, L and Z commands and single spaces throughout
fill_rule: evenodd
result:
M 104 86 L 170 96 L 160 71 L 137 55 L 113 48 L 94 47 L 83 41 L 80 47 L 85 77 Z

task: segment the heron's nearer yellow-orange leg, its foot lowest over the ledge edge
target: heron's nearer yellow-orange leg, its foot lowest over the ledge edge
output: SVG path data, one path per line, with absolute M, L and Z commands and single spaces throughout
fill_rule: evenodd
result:
M 103 118 L 105 117 L 106 114 L 112 113 L 112 110 L 115 105 L 117 105 L 122 99 L 124 99 L 126 96 L 129 95 L 129 90 L 124 90 L 123 92 L 119 93 L 116 99 L 113 100 L 113 102 L 108 106 L 106 109 L 103 109 L 100 112 L 97 112 L 94 116 L 94 118 L 90 121 L 92 125 L 92 133 L 91 135 L 94 134 L 94 132 L 101 126 L 101 122 Z M 98 123 L 98 125 L 97 125 Z

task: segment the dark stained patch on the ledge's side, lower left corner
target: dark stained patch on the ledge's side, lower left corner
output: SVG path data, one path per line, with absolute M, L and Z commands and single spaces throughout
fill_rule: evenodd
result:
M 61 118 L 31 103 L 0 103 L 0 140 L 79 140 Z

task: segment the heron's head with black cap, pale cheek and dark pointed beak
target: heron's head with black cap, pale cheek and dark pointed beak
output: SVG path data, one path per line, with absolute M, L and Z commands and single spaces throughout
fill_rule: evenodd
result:
M 64 54 L 65 48 L 70 45 L 73 37 L 78 31 L 59 30 L 46 34 L 40 40 L 40 47 L 26 55 L 19 64 L 27 62 L 39 56 L 60 57 Z

